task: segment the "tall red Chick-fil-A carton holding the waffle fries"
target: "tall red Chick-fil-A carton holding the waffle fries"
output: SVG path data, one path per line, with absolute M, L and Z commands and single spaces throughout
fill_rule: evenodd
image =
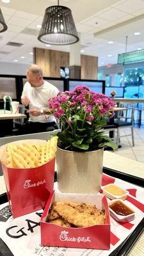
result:
M 21 140 L 13 144 L 42 145 L 45 140 Z M 1 147 L 1 152 L 6 145 Z M 3 159 L 3 152 L 1 159 Z M 45 207 L 54 185 L 55 159 L 35 168 L 9 168 L 3 163 L 3 175 L 13 218 Z

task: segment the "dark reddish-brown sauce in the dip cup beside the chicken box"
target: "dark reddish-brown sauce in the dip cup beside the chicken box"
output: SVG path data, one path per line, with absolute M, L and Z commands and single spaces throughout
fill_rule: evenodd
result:
M 118 215 L 127 216 L 134 213 L 129 207 L 120 201 L 113 202 L 109 207 Z

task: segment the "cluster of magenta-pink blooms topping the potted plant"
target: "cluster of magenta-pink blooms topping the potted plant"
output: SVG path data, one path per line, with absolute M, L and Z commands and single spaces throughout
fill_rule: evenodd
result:
M 59 92 L 56 97 L 49 100 L 49 111 L 60 118 L 65 116 L 65 122 L 69 122 L 70 116 L 78 115 L 81 117 L 83 107 L 86 113 L 91 113 L 88 120 L 93 120 L 93 116 L 103 118 L 113 116 L 115 102 L 103 93 L 91 92 L 87 86 L 76 86 L 73 92 Z M 64 110 L 66 109 L 66 110 Z M 66 113 L 67 111 L 67 117 Z M 82 111 L 82 112 L 81 112 Z M 110 114 L 111 113 L 111 114 Z M 96 119 L 95 119 L 96 120 Z

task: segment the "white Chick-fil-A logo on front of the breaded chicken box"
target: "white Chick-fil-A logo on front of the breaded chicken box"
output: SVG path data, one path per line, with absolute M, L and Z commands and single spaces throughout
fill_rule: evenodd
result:
M 87 237 L 81 237 L 81 236 L 78 236 L 78 237 L 70 237 L 68 236 L 68 231 L 61 231 L 60 233 L 60 241 L 70 241 L 70 242 L 77 242 L 77 243 L 80 243 L 80 242 L 90 242 L 91 243 L 91 239 L 90 239 L 90 236 L 87 236 Z

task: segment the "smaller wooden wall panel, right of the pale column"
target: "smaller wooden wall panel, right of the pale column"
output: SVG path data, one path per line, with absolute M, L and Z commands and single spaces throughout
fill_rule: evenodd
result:
M 81 79 L 97 79 L 97 62 L 95 56 L 81 55 Z

